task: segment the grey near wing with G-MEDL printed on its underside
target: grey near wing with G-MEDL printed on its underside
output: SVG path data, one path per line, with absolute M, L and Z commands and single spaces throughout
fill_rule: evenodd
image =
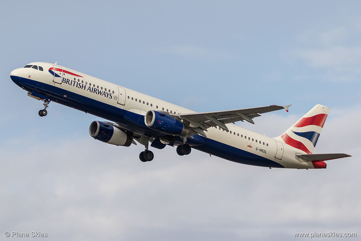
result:
M 235 123 L 236 121 L 248 121 L 252 124 L 253 118 L 261 116 L 260 114 L 277 111 L 279 109 L 286 109 L 288 112 L 288 106 L 263 106 L 248 109 L 234 109 L 231 111 L 217 111 L 217 112 L 203 112 L 203 113 L 189 113 L 177 115 L 180 119 L 187 121 L 186 124 L 190 126 L 195 132 L 205 136 L 203 130 L 207 131 L 207 128 L 211 126 L 219 126 L 225 131 L 229 131 L 225 124 Z

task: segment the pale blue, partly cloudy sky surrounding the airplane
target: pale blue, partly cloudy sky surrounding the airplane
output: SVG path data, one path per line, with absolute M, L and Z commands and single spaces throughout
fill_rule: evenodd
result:
M 290 240 L 361 236 L 357 1 L 1 1 L 0 236 L 51 240 Z M 237 125 L 276 137 L 331 108 L 327 169 L 253 167 L 193 150 L 117 147 L 98 117 L 42 102 L 13 69 L 55 63 L 197 112 L 292 104 Z M 4 237 L 6 240 L 6 238 Z M 36 239 L 36 238 L 35 238 Z M 327 238 L 314 238 L 326 240 Z M 345 238 L 331 238 L 332 240 Z

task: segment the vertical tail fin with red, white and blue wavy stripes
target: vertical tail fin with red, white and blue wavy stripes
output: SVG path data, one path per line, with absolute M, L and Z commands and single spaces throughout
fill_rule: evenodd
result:
M 312 154 L 329 111 L 329 107 L 318 104 L 276 139 L 282 138 L 284 143 Z

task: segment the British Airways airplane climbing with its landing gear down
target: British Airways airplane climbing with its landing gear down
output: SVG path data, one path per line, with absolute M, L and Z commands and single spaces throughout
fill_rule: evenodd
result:
M 192 149 L 236 163 L 269 168 L 320 169 L 326 160 L 348 157 L 343 153 L 313 154 L 330 108 L 316 105 L 299 121 L 275 138 L 235 125 L 254 124 L 260 114 L 286 109 L 270 105 L 216 112 L 195 112 L 57 64 L 35 62 L 10 73 L 27 95 L 41 100 L 47 115 L 50 102 L 59 103 L 109 121 L 93 121 L 96 140 L 129 147 L 144 145 L 142 162 L 153 160 L 149 146 L 176 147 L 178 155 Z M 135 142 L 136 141 L 136 142 Z M 149 143 L 151 143 L 149 145 Z

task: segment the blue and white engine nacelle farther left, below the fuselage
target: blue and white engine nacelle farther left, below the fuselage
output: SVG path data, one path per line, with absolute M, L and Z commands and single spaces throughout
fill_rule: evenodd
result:
M 101 121 L 93 121 L 89 134 L 96 140 L 117 146 L 130 146 L 133 139 L 122 130 Z

